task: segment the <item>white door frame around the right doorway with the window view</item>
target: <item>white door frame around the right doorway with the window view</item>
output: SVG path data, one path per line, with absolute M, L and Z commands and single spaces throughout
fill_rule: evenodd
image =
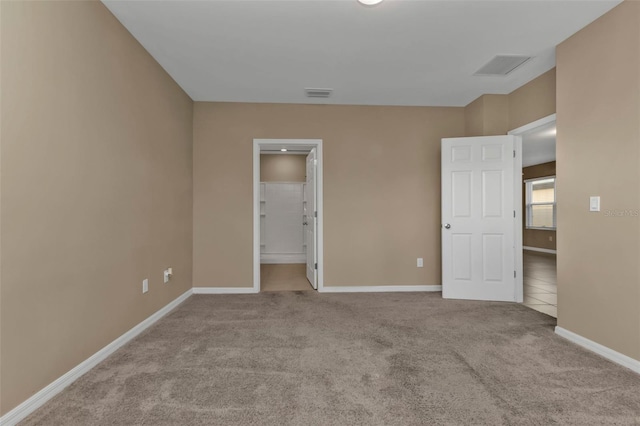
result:
M 515 189 L 515 210 L 516 210 L 516 220 L 515 220 L 515 255 L 516 255 L 516 271 L 518 274 L 516 276 L 516 301 L 518 303 L 522 303 L 524 301 L 524 282 L 523 282 L 523 264 L 522 264 L 522 246 L 523 246 L 523 232 L 522 232 L 522 135 L 530 132 L 531 130 L 537 129 L 538 127 L 546 126 L 549 123 L 556 121 L 556 114 L 551 114 L 546 117 L 543 117 L 539 120 L 533 121 L 529 124 L 525 124 L 524 126 L 520 126 L 516 129 L 510 130 L 507 132 L 508 135 L 519 136 L 516 138 L 516 170 L 519 171 L 515 173 L 514 176 L 514 189 Z M 518 166 L 519 165 L 519 166 Z M 557 238 L 556 238 L 557 241 Z

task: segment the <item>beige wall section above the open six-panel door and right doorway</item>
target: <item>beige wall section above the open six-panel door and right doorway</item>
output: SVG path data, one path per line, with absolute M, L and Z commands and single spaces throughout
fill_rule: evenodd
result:
M 556 112 L 556 69 L 508 95 L 482 95 L 465 107 L 465 136 L 504 135 Z

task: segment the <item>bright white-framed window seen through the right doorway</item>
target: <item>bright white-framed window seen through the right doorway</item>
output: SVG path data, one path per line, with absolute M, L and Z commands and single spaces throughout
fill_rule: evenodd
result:
M 525 181 L 529 229 L 556 229 L 556 177 Z

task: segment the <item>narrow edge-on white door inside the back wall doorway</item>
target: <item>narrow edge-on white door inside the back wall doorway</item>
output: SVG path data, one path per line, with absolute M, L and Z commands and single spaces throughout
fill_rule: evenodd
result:
M 316 149 L 307 155 L 307 180 L 304 186 L 304 225 L 307 245 L 307 279 L 314 289 L 318 289 L 318 254 L 316 232 L 318 218 L 316 208 Z

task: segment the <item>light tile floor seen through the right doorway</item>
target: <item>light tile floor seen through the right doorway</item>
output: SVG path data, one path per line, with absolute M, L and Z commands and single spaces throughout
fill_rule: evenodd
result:
M 557 318 L 556 255 L 525 250 L 523 266 L 524 305 Z

